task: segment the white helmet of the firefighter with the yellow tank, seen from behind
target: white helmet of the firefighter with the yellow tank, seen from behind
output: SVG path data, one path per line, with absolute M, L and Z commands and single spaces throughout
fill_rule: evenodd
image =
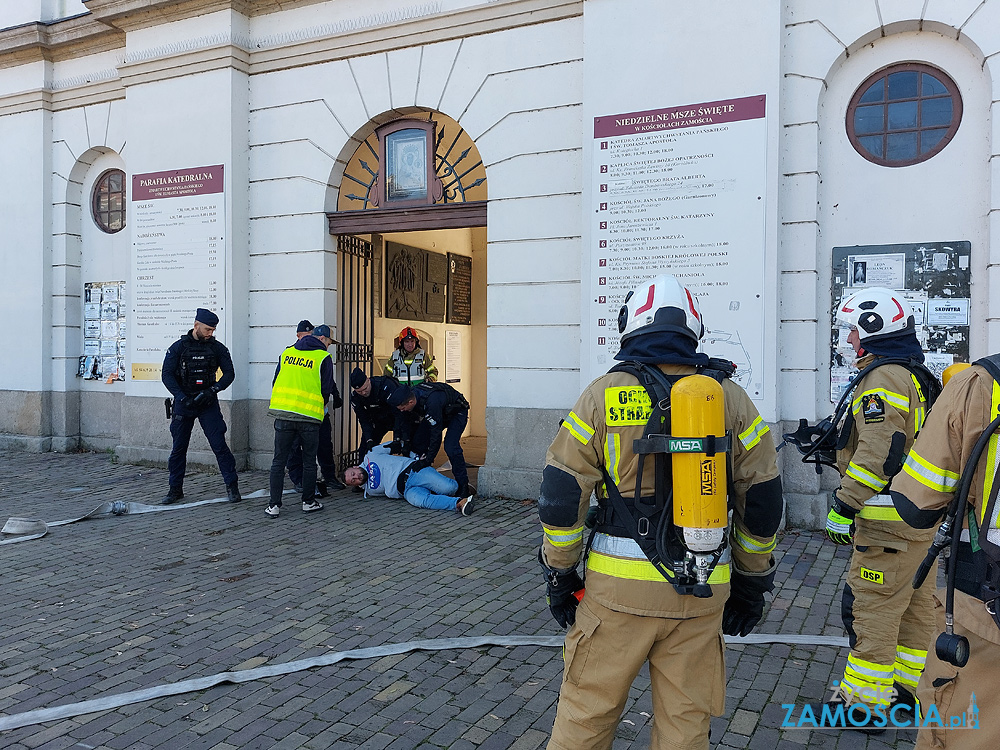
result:
M 698 298 L 669 274 L 636 287 L 618 313 L 618 332 L 624 342 L 647 333 L 678 333 L 694 341 L 705 335 Z

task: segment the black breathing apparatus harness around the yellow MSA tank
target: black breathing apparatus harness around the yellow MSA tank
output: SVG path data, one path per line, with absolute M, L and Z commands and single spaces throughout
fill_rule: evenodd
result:
M 736 366 L 724 359 L 711 358 L 707 365 L 698 368 L 700 375 L 707 375 L 718 383 L 732 377 Z M 726 435 L 706 435 L 702 438 L 675 438 L 670 431 L 670 391 L 674 384 L 689 374 L 666 375 L 656 366 L 641 362 L 622 362 L 609 372 L 626 372 L 646 389 L 651 402 L 651 413 L 643 430 L 643 437 L 633 441 L 632 450 L 639 459 L 635 490 L 631 498 L 622 497 L 614 480 L 602 467 L 604 486 L 610 508 L 599 503 L 597 524 L 587 540 L 589 552 L 594 533 L 601 531 L 612 536 L 631 537 L 652 563 L 653 567 L 669 581 L 677 593 L 698 598 L 712 596 L 708 578 L 722 559 L 728 545 L 728 528 L 722 534 L 718 548 L 707 553 L 692 552 L 684 544 L 679 529 L 673 521 L 673 481 L 669 453 L 704 453 L 715 456 L 726 454 L 727 469 L 731 458 L 731 439 Z M 695 374 L 695 373 L 690 373 Z M 692 445 L 692 444 L 696 444 Z M 693 450 L 696 447 L 697 450 Z M 654 456 L 655 491 L 653 497 L 642 496 L 642 474 L 645 457 Z M 731 477 L 732 472 L 727 471 Z

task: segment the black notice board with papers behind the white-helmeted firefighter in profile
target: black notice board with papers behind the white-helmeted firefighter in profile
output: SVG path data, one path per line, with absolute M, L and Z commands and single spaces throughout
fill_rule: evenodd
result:
M 833 248 L 830 401 L 840 400 L 857 373 L 847 326 L 837 320 L 843 299 L 881 286 L 902 293 L 913 308 L 917 340 L 938 378 L 955 362 L 969 361 L 970 242 L 920 242 Z

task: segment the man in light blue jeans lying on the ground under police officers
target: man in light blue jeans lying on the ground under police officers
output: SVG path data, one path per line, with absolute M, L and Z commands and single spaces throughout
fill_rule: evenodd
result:
M 361 462 L 344 472 L 349 487 L 364 485 L 365 496 L 383 495 L 405 498 L 417 508 L 457 510 L 471 516 L 476 509 L 475 496 L 456 498 L 458 482 L 432 468 L 428 459 L 394 456 L 390 444 L 372 448 Z

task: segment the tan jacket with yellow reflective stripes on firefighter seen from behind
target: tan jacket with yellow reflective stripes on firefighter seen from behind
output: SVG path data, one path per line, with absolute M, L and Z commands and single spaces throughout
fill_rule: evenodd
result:
M 686 365 L 660 365 L 668 375 L 696 372 Z M 747 491 L 778 476 L 774 441 L 746 392 L 732 380 L 722 383 L 725 426 L 734 436 L 731 545 L 727 557 L 715 568 L 710 583 L 714 595 L 707 599 L 683 596 L 674 590 L 630 539 L 604 533 L 594 535 L 586 561 L 587 596 L 602 606 L 620 612 L 658 617 L 697 617 L 721 609 L 729 596 L 731 566 L 750 573 L 762 573 L 771 565 L 773 529 L 765 536 L 753 533 L 760 528 L 761 512 L 775 519 L 781 516 L 781 497 L 764 502 L 774 507 L 750 510 Z M 584 551 L 584 519 L 592 492 L 607 502 L 602 469 L 626 498 L 635 492 L 639 458 L 633 441 L 642 437 L 650 414 L 649 398 L 636 378 L 627 372 L 611 372 L 592 382 L 563 419 L 549 446 L 546 465 L 567 475 L 556 494 L 539 504 L 543 528 L 543 554 L 555 568 L 576 565 Z M 642 495 L 654 493 L 654 459 L 648 456 L 643 469 Z M 568 481 L 572 477 L 573 482 Z M 747 514 L 750 513 L 748 528 Z M 565 525 L 553 519 L 567 519 Z M 569 521 L 568 519 L 575 519 Z M 731 556 L 731 557 L 730 557 Z

